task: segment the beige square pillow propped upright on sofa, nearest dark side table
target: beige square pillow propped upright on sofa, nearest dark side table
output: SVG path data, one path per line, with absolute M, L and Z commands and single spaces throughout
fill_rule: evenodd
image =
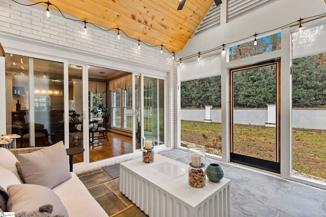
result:
M 31 153 L 19 153 L 17 158 L 25 183 L 52 189 L 71 178 L 62 141 Z

